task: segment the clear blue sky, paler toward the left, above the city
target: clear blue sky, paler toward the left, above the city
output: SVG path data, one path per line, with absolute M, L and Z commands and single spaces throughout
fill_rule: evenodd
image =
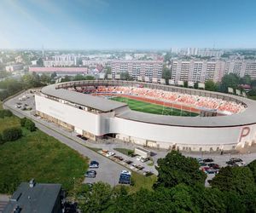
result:
M 256 0 L 0 0 L 0 49 L 256 48 Z

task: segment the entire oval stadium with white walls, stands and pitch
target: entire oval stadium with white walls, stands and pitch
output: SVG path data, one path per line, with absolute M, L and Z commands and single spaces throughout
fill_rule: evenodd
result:
M 35 95 L 36 113 L 94 141 L 216 152 L 250 147 L 256 102 L 168 85 L 94 80 L 56 83 Z

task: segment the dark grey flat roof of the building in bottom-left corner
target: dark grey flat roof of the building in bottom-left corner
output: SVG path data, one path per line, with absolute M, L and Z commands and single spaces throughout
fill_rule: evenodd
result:
M 61 184 L 36 183 L 34 187 L 30 187 L 28 182 L 21 182 L 3 213 L 14 212 L 18 205 L 21 212 L 50 213 L 60 192 Z

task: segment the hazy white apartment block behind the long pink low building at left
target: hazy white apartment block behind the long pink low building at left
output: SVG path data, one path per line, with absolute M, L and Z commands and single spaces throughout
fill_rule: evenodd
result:
M 51 66 L 76 66 L 76 55 L 55 55 L 44 60 L 45 67 Z

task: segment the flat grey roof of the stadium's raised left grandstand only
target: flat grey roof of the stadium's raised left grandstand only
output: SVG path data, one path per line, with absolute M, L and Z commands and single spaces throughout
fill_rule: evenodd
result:
M 71 101 L 81 106 L 90 107 L 102 112 L 109 112 L 119 107 L 127 106 L 125 103 L 110 101 L 98 96 L 86 95 L 67 89 L 55 89 L 54 84 L 44 87 L 41 91 L 46 95 L 54 96 L 65 101 Z

